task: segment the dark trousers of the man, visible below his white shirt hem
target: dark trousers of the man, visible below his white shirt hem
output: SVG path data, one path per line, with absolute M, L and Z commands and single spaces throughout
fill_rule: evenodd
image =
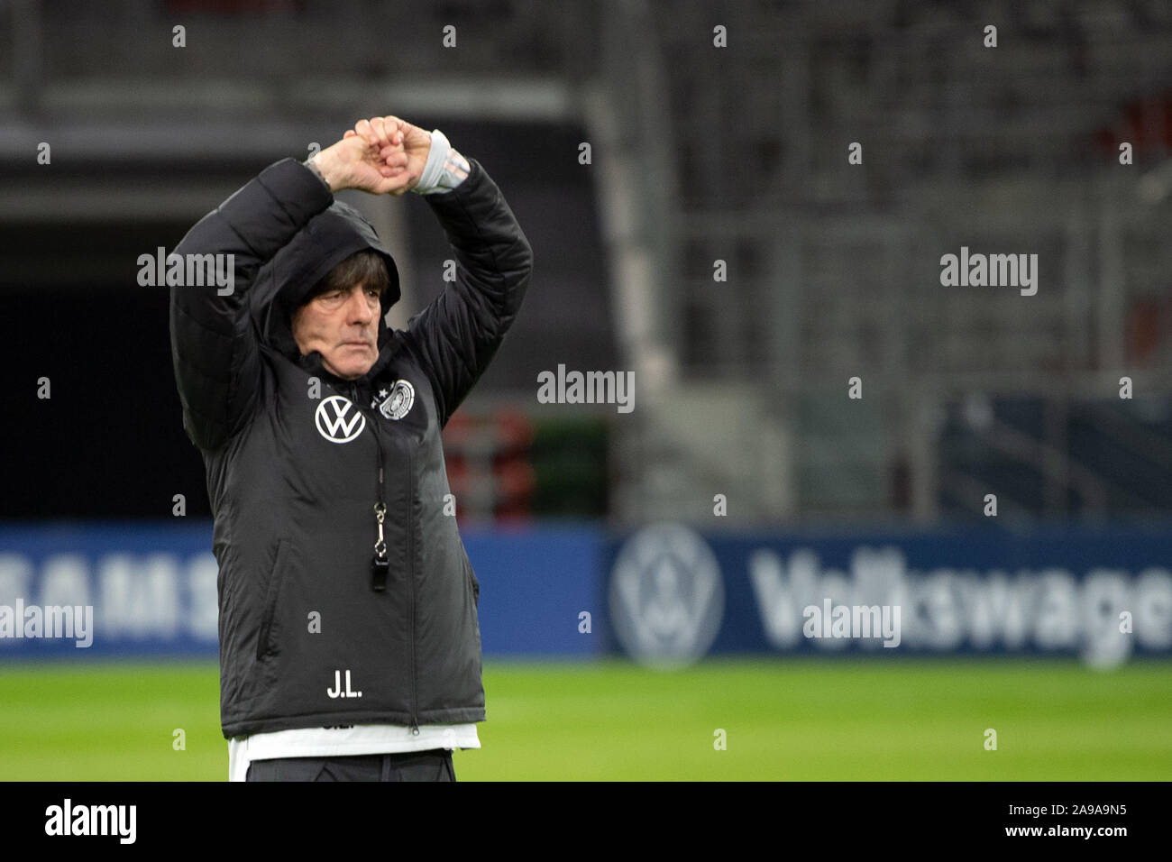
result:
M 246 781 L 455 781 L 451 752 L 280 758 L 248 763 Z

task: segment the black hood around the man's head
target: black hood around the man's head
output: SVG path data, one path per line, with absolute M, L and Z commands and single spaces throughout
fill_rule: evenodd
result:
M 250 313 L 260 341 L 299 361 L 301 351 L 293 340 L 293 313 L 327 272 L 350 254 L 367 249 L 382 256 L 390 277 L 379 318 L 377 345 L 381 347 L 387 335 L 387 312 L 402 296 L 398 269 L 374 226 L 341 201 L 334 201 L 329 209 L 309 219 L 257 273 Z

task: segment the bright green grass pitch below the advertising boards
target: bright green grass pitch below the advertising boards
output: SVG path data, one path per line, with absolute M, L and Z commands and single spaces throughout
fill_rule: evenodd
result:
M 778 658 L 655 672 L 489 658 L 484 686 L 483 748 L 456 753 L 462 781 L 1172 778 L 1168 661 Z M 214 663 L 0 670 L 0 780 L 226 778 Z

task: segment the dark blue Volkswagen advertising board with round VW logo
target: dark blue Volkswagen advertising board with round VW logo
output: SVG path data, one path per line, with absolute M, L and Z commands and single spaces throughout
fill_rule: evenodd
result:
M 710 535 L 656 524 L 606 554 L 608 646 L 710 652 L 1172 653 L 1172 531 Z

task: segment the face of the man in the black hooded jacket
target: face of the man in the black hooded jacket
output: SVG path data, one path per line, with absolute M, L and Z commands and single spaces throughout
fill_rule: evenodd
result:
M 293 340 L 301 355 L 318 351 L 326 371 L 355 380 L 379 358 L 379 291 L 361 284 L 322 293 L 297 310 Z

